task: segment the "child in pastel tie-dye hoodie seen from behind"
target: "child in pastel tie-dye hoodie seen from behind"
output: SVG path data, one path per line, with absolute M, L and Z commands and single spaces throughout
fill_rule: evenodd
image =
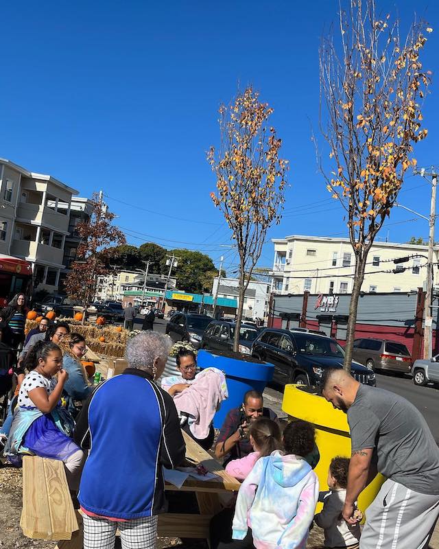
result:
M 257 460 L 238 493 L 233 539 L 245 540 L 239 547 L 305 549 L 319 485 L 301 456 L 312 451 L 314 436 L 307 421 L 289 423 L 283 433 L 285 452 Z

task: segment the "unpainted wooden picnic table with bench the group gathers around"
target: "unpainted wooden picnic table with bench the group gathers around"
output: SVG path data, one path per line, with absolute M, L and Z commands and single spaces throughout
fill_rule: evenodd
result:
M 194 492 L 200 514 L 165 513 L 158 517 L 158 535 L 209 539 L 209 523 L 222 509 L 219 494 L 239 490 L 240 483 L 191 437 L 182 431 L 186 458 L 217 475 L 215 480 L 188 478 L 180 489 L 169 482 L 165 490 Z M 23 512 L 20 526 L 33 539 L 59 541 L 58 549 L 82 549 L 82 516 L 73 509 L 62 461 L 23 458 Z

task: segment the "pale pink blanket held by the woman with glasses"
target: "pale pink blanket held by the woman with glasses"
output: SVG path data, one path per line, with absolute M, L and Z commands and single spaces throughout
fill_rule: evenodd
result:
M 203 440 L 209 430 L 215 412 L 228 397 L 226 376 L 217 368 L 206 368 L 197 374 L 190 387 L 174 397 L 180 414 L 189 416 L 189 429 L 195 439 Z

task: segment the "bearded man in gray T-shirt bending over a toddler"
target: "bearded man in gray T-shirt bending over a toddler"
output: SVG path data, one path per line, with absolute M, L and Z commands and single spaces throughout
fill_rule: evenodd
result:
M 387 480 L 367 510 L 361 549 L 421 549 L 439 515 L 439 449 L 409 401 L 327 369 L 322 395 L 348 416 L 351 461 L 342 511 L 355 524 L 355 501 L 377 471 Z

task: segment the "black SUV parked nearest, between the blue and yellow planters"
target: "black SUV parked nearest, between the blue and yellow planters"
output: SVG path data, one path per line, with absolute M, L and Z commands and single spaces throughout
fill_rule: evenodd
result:
M 344 349 L 327 336 L 266 328 L 254 341 L 252 355 L 274 364 L 276 383 L 318 386 L 325 368 L 343 366 Z M 352 362 L 351 373 L 361 383 L 377 384 L 375 373 L 358 362 Z

